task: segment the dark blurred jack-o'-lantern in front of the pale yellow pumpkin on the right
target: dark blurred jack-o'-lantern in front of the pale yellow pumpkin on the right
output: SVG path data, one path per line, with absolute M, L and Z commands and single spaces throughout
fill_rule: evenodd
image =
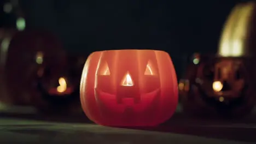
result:
M 247 114 L 254 104 L 254 97 L 246 63 L 246 59 L 224 57 L 190 67 L 185 79 L 188 82 L 183 82 L 189 88 L 181 89 L 185 109 L 190 111 L 193 107 L 191 111 L 199 113 L 213 110 L 225 116 Z

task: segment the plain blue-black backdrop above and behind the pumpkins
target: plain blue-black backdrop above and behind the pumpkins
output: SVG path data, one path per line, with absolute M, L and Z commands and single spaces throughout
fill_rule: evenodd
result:
M 246 1 L 20 0 L 19 5 L 27 29 L 55 33 L 67 51 L 86 57 L 109 49 L 164 50 L 179 77 L 188 55 L 217 51 L 224 22 L 239 2 Z M 1 25 L 15 25 L 10 15 L 2 12 Z

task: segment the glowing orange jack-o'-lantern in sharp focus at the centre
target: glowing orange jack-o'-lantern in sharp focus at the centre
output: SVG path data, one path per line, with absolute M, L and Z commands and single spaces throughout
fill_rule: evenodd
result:
M 176 74 L 170 56 L 162 51 L 92 53 L 81 82 L 82 106 L 99 124 L 154 125 L 170 118 L 176 109 Z M 95 99 L 97 112 L 85 104 L 94 100 L 86 99 Z

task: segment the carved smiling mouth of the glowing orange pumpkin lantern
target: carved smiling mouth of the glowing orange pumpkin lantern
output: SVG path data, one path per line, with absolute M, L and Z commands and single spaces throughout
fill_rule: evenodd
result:
M 96 99 L 98 103 L 108 107 L 116 112 L 123 112 L 126 107 L 133 107 L 135 111 L 143 111 L 147 109 L 160 94 L 160 89 L 146 94 L 130 95 L 130 97 L 123 97 L 123 95 L 109 94 L 96 88 Z M 118 100 L 120 99 L 120 100 Z

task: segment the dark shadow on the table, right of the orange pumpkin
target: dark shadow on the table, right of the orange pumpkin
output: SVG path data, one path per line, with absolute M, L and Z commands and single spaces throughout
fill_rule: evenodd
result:
M 160 131 L 215 139 L 256 142 L 256 117 L 250 116 L 240 119 L 217 117 L 188 117 L 176 113 L 166 123 L 158 127 L 119 127 L 126 129 Z

